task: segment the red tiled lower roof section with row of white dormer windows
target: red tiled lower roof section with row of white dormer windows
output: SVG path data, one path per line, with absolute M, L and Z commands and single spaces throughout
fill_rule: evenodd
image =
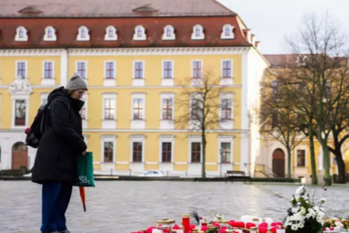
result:
M 32 10 L 32 9 L 31 9 Z M 222 27 L 230 23 L 234 26 L 235 39 L 221 39 Z M 135 26 L 146 28 L 146 41 L 133 41 Z M 175 29 L 175 41 L 163 41 L 164 27 L 171 24 Z M 191 39 L 193 26 L 201 24 L 205 39 Z M 76 41 L 80 26 L 90 29 L 90 41 Z M 112 25 L 117 28 L 118 41 L 104 41 L 105 28 Z M 28 29 L 29 40 L 16 42 L 16 28 Z M 57 31 L 57 41 L 43 41 L 44 29 L 53 26 Z M 251 46 L 243 35 L 237 16 L 211 17 L 143 17 L 143 18 L 50 18 L 50 19 L 8 19 L 0 18 L 0 48 L 106 48 L 106 47 L 174 47 L 174 46 Z

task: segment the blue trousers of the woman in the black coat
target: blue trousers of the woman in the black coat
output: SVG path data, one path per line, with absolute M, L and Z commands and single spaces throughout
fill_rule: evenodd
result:
M 40 231 L 55 232 L 67 230 L 65 212 L 71 195 L 71 183 L 43 183 L 42 225 Z

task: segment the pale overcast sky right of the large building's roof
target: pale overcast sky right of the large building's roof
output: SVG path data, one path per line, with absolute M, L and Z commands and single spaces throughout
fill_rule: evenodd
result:
M 263 54 L 288 53 L 285 35 L 302 26 L 306 13 L 319 16 L 326 11 L 342 31 L 349 35 L 349 0 L 218 0 L 237 13 L 261 41 Z

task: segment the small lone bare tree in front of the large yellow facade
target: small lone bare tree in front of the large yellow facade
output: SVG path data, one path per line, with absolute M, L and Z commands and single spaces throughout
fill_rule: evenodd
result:
M 181 85 L 182 92 L 176 96 L 176 112 L 182 114 L 176 117 L 175 123 L 180 128 L 201 133 L 202 161 L 200 162 L 201 177 L 204 178 L 206 177 L 206 133 L 207 130 L 219 129 L 220 127 L 220 95 L 225 92 L 226 87 L 222 86 L 220 79 L 215 78 L 211 72 L 204 74 L 203 78 L 187 81 L 192 85 Z M 226 104 L 232 106 L 232 100 L 228 100 Z M 226 111 L 229 111 L 229 106 Z M 231 111 L 230 107 L 230 112 L 226 114 L 230 116 Z M 196 158 L 195 161 L 198 162 L 198 159 L 200 158 Z

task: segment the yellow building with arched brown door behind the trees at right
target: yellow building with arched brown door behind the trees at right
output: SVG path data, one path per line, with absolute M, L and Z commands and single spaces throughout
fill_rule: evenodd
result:
M 294 61 L 297 59 L 294 54 L 272 54 L 265 55 L 272 68 L 269 68 L 265 79 L 270 82 L 275 82 L 275 86 L 278 85 L 277 80 L 273 74 L 283 71 L 283 65 L 287 61 Z M 331 144 L 331 137 L 329 137 L 329 144 Z M 295 141 L 296 147 L 291 152 L 291 176 L 293 178 L 305 178 L 306 182 L 311 182 L 311 158 L 310 158 L 310 143 L 307 137 L 299 137 L 299 140 Z M 342 148 L 343 159 L 346 163 L 349 162 L 349 158 L 346 158 L 346 151 L 349 149 L 349 143 L 344 143 Z M 270 174 L 274 173 L 274 176 L 286 177 L 287 176 L 287 149 L 280 141 L 268 135 L 263 135 L 261 143 L 261 151 L 259 158 L 257 158 L 257 164 L 265 166 L 265 170 Z M 314 153 L 315 153 L 315 166 L 318 176 L 318 181 L 323 182 L 324 178 L 324 157 L 322 147 L 317 139 L 314 139 Z M 278 167 L 283 166 L 283 170 Z M 335 156 L 331 153 L 330 173 L 338 174 Z

